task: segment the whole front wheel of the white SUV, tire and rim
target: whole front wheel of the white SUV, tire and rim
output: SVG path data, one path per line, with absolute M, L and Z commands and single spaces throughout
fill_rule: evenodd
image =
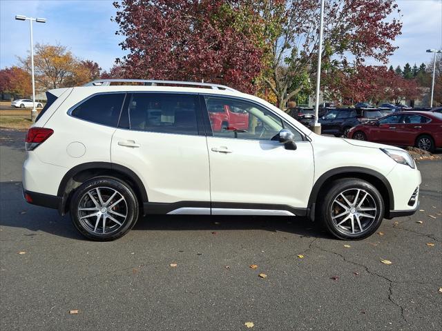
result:
M 385 204 L 381 194 L 372 184 L 362 179 L 333 181 L 325 188 L 319 201 L 323 201 L 318 210 L 320 219 L 325 228 L 338 239 L 367 238 L 376 232 L 383 220 Z

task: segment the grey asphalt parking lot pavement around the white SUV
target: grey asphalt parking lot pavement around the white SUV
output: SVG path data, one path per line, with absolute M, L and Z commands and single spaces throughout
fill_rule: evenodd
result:
M 441 160 L 418 163 L 421 211 L 363 241 L 332 239 L 307 219 L 170 216 L 96 243 L 68 216 L 23 201 L 23 137 L 0 134 L 1 330 L 442 326 Z

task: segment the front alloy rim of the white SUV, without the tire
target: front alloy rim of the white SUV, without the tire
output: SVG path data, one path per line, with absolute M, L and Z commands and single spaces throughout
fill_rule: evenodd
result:
M 336 230 L 344 234 L 361 234 L 376 219 L 378 207 L 369 192 L 354 188 L 340 192 L 332 203 L 330 215 Z

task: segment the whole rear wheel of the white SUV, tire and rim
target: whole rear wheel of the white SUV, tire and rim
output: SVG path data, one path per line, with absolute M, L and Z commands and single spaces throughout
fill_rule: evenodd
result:
M 86 181 L 75 190 L 70 200 L 70 217 L 75 228 L 84 237 L 95 241 L 123 237 L 137 222 L 139 210 L 140 204 L 132 188 L 111 177 Z

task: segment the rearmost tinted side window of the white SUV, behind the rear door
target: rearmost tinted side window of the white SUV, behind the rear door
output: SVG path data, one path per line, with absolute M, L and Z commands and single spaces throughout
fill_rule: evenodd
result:
M 80 103 L 70 114 L 85 121 L 116 127 L 125 96 L 125 93 L 97 94 Z

